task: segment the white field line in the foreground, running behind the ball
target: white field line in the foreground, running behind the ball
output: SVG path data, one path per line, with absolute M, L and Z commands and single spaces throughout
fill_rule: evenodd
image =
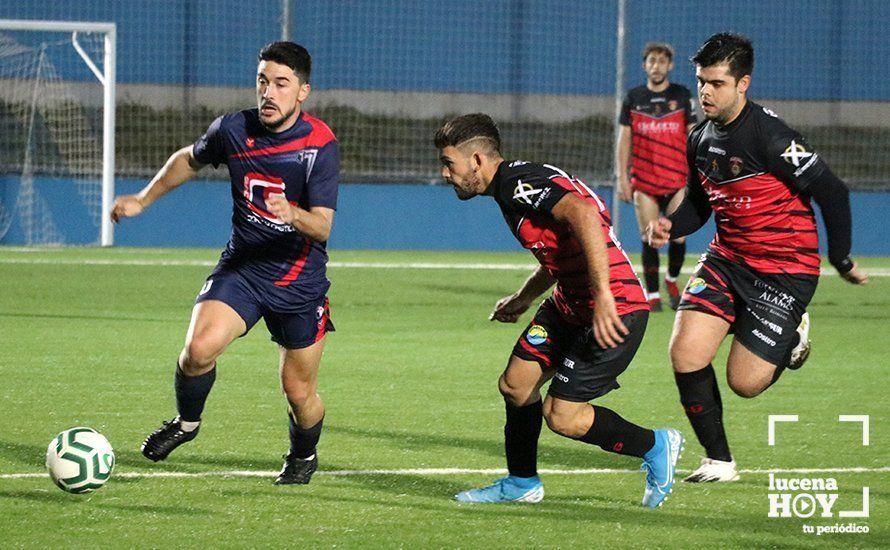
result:
M 692 470 L 678 469 L 677 473 L 686 474 Z M 863 474 L 890 472 L 890 466 L 878 468 L 772 468 L 739 470 L 742 474 Z M 473 468 L 406 468 L 396 470 L 319 470 L 315 475 L 322 476 L 448 476 L 448 475 L 505 475 L 507 470 L 473 469 Z M 543 468 L 538 470 L 543 475 L 599 475 L 599 474 L 638 474 L 639 469 L 588 468 L 579 470 L 558 470 Z M 275 477 L 278 471 L 262 470 L 211 470 L 207 472 L 117 472 L 115 477 Z M 0 479 L 27 479 L 46 477 L 46 473 L 14 473 L 0 474 Z

